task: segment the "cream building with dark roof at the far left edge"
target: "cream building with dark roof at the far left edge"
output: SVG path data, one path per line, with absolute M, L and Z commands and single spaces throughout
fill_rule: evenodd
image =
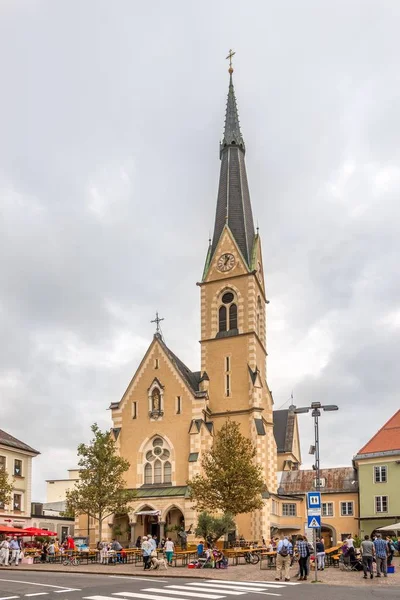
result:
M 14 482 L 11 501 L 0 505 L 0 523 L 29 527 L 31 518 L 32 458 L 39 452 L 0 429 L 0 469 Z

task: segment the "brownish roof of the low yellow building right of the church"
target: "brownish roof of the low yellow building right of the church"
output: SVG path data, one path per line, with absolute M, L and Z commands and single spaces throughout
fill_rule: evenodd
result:
M 321 469 L 320 479 L 325 479 L 321 492 L 357 492 L 357 471 L 352 467 Z M 314 489 L 315 471 L 283 471 L 279 491 L 282 494 L 304 494 Z

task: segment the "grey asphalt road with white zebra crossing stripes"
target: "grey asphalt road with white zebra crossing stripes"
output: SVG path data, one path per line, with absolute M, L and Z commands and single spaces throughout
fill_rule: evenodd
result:
M 0 570 L 0 600 L 399 600 L 400 588 Z

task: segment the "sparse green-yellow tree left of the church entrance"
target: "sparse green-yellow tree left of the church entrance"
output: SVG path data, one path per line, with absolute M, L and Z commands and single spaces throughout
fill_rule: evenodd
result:
M 111 432 L 100 431 L 95 423 L 89 444 L 79 444 L 79 482 L 67 492 L 66 512 L 87 514 L 102 523 L 112 514 L 126 514 L 135 492 L 125 489 L 124 473 L 129 462 L 118 456 Z

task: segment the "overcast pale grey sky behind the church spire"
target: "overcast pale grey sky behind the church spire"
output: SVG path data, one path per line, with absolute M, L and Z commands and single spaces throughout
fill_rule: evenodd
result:
M 41 452 L 32 500 L 110 426 L 156 310 L 199 369 L 230 48 L 275 408 L 337 404 L 321 466 L 350 465 L 400 407 L 400 4 L 2 0 L 0 15 L 0 428 Z

